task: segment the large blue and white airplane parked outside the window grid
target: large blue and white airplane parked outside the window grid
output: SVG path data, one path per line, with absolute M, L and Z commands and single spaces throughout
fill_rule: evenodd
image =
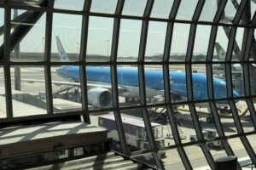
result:
M 57 47 L 61 61 L 68 61 L 67 54 L 56 37 Z M 56 69 L 60 77 L 67 78 L 73 82 L 70 85 L 78 85 L 80 82 L 79 66 L 67 65 Z M 108 108 L 112 105 L 111 94 L 111 71 L 109 67 L 86 66 L 86 78 L 88 87 L 88 102 L 95 108 Z M 134 68 L 117 68 L 119 96 L 128 98 L 139 98 L 138 71 Z M 193 93 L 195 100 L 208 99 L 207 75 L 192 73 Z M 164 96 L 163 71 L 145 69 L 146 95 L 148 99 L 154 96 Z M 187 97 L 186 73 L 184 71 L 170 71 L 171 94 L 179 95 L 181 99 Z M 213 77 L 215 99 L 227 98 L 226 82 Z M 236 90 L 233 96 L 239 97 Z M 236 100 L 237 101 L 237 100 Z M 218 101 L 220 105 L 228 105 L 227 101 Z

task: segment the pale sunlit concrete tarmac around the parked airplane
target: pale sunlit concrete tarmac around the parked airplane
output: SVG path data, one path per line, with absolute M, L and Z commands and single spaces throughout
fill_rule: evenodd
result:
M 201 68 L 201 65 L 198 65 L 198 67 L 196 65 L 194 65 L 195 70 L 198 70 L 199 72 L 204 72 L 205 68 Z M 55 74 L 55 68 L 57 67 L 52 67 L 52 81 L 65 81 L 63 78 L 58 77 Z M 156 67 L 154 69 L 160 69 L 160 67 Z M 183 71 L 184 67 L 183 65 L 177 65 L 174 68 L 174 65 L 172 67 L 173 70 L 177 70 L 177 71 Z M 171 70 L 171 67 L 170 67 Z M 11 69 L 11 77 L 14 77 L 14 69 Z M 0 69 L 0 77 L 3 77 L 3 69 Z M 24 67 L 21 68 L 21 78 L 27 78 L 27 79 L 41 79 L 44 80 L 44 68 L 43 67 Z M 0 87 L 2 87 L 3 89 L 3 81 L 0 82 Z M 55 91 L 56 89 L 60 88 L 59 86 L 55 86 L 53 85 L 53 91 Z M 12 88 L 14 89 L 14 82 L 12 81 Z M 34 82 L 34 83 L 30 83 L 30 82 L 21 82 L 21 90 L 24 93 L 28 93 L 28 94 L 38 94 L 40 92 L 45 92 L 45 85 L 44 83 L 41 82 Z M 2 94 L 4 94 L 4 90 L 2 92 Z M 4 99 L 1 99 L 1 101 L 3 101 Z M 1 102 L 0 104 L 0 111 L 1 109 L 5 109 L 3 106 L 4 102 Z M 79 106 L 78 106 L 79 107 Z M 81 107 L 81 106 L 80 106 Z M 18 108 L 17 108 L 18 109 Z M 30 111 L 32 112 L 32 111 Z M 45 112 L 44 112 L 45 113 Z M 3 114 L 0 112 L 0 114 Z M 21 114 L 21 113 L 19 113 Z M 121 113 L 122 115 L 124 115 L 124 113 Z M 0 116 L 4 117 L 4 116 Z M 95 125 L 98 124 L 97 122 L 97 116 L 90 116 L 91 117 L 91 122 Z M 182 135 L 185 137 L 184 139 L 182 139 L 182 143 L 188 143 L 189 140 L 189 135 L 195 133 L 195 128 L 193 126 L 193 122 L 191 120 L 191 116 L 189 115 L 189 113 L 186 113 L 185 111 L 183 112 L 183 114 L 181 114 L 178 118 L 179 120 L 179 129 L 180 132 L 182 132 Z M 200 122 L 201 122 L 201 127 L 203 128 L 212 128 L 212 129 L 216 129 L 215 124 L 213 122 L 207 122 L 205 117 L 200 117 Z M 224 133 L 225 135 L 231 135 L 231 134 L 236 134 L 237 130 L 236 130 L 236 126 L 235 126 L 235 122 L 233 120 L 233 118 L 221 118 L 221 122 L 223 124 L 224 127 Z M 243 131 L 244 132 L 252 132 L 253 131 L 253 123 L 252 122 L 246 122 L 246 121 L 241 121 L 241 125 L 243 127 Z M 169 124 L 165 124 L 163 125 L 164 127 L 164 138 L 166 139 L 166 145 L 170 144 L 173 145 L 174 141 L 172 138 L 170 138 L 170 136 L 172 136 L 172 129 L 171 126 Z M 252 144 L 253 150 L 256 150 L 256 134 L 250 135 L 247 137 L 247 139 L 249 140 L 250 144 Z M 236 156 L 239 157 L 247 157 L 247 152 L 245 151 L 241 140 L 240 139 L 229 139 L 229 144 L 230 147 L 234 150 L 234 152 L 236 153 Z M 205 159 L 205 156 L 203 155 L 201 148 L 197 145 L 192 145 L 192 146 L 187 146 L 185 147 L 185 151 L 187 156 L 189 157 L 189 160 L 192 162 L 192 166 L 193 168 L 197 168 L 197 167 L 203 167 L 205 165 L 207 165 L 207 161 Z M 225 151 L 224 150 L 218 150 L 218 149 L 211 149 L 210 150 L 212 156 L 214 159 L 217 159 L 220 156 L 225 156 Z M 183 163 L 181 162 L 178 154 L 177 154 L 177 150 L 173 149 L 173 150 L 166 150 L 166 158 L 163 159 L 163 161 L 165 161 L 165 166 L 166 169 L 183 169 Z

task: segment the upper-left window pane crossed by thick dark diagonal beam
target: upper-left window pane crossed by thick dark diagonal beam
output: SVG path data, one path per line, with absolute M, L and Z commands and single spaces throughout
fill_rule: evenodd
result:
M 19 39 L 20 30 L 28 31 L 21 41 L 12 41 L 11 61 L 36 62 L 44 60 L 44 36 L 46 14 L 37 11 L 12 9 L 11 37 Z M 22 17 L 37 16 L 36 20 L 21 20 Z M 16 43 L 17 42 L 17 43 Z

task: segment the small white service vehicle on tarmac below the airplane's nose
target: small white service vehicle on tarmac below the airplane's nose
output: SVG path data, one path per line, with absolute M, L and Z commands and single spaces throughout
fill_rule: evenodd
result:
M 207 139 L 215 139 L 217 137 L 217 132 L 215 130 L 212 130 L 212 129 L 204 129 L 202 131 L 202 134 L 203 134 L 204 139 L 206 139 L 206 140 Z M 195 141 L 198 140 L 196 134 L 190 134 L 189 139 L 192 142 L 195 142 Z M 209 142 L 207 142 L 207 146 L 209 148 L 221 148 L 222 144 L 219 140 L 209 141 Z

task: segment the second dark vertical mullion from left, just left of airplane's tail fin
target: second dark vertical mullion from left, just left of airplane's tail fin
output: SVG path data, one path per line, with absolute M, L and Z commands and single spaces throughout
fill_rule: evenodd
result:
M 51 9 L 46 14 L 46 31 L 45 31 L 45 46 L 44 46 L 44 60 L 46 61 L 46 67 L 44 68 L 45 77 L 45 90 L 46 90 L 46 105 L 49 115 L 53 115 L 53 97 L 52 97 L 52 83 L 51 83 L 51 69 L 50 69 L 50 54 L 51 54 L 51 37 L 52 37 L 52 22 L 53 12 L 52 8 L 54 1 L 48 2 L 48 7 Z

